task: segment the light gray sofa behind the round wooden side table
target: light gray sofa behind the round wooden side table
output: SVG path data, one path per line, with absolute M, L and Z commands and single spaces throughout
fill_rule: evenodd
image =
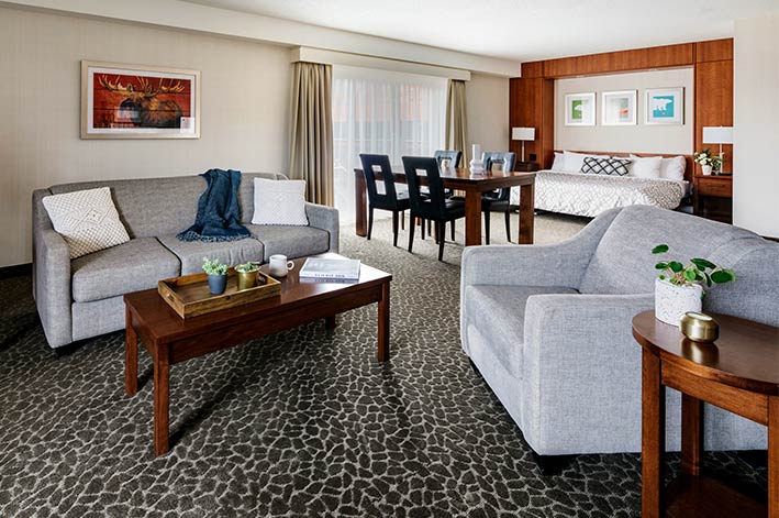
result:
M 653 207 L 603 212 L 554 245 L 463 254 L 463 348 L 539 455 L 641 451 L 641 348 L 631 320 L 654 309 L 653 246 L 735 271 L 704 310 L 779 326 L 779 244 Z M 678 450 L 680 395 L 667 390 L 667 448 Z M 765 427 L 704 410 L 705 448 L 766 448 Z

